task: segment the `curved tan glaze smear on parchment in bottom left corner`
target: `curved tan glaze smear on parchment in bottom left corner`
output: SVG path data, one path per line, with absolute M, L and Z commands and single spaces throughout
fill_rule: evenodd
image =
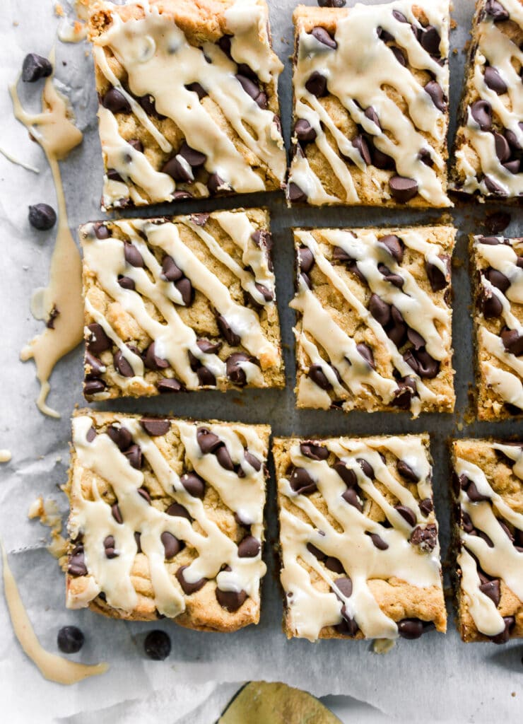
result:
M 72 684 L 82 681 L 88 676 L 105 673 L 109 668 L 105 663 L 95 665 L 78 664 L 56 654 L 51 654 L 42 647 L 27 616 L 17 583 L 9 568 L 9 563 L 7 563 L 4 545 L 0 543 L 0 547 L 4 568 L 4 594 L 14 635 L 20 641 L 20 646 L 27 656 L 38 666 L 43 677 L 57 683 Z

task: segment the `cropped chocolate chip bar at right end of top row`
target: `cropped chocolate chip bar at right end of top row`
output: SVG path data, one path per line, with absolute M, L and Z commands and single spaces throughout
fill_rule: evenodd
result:
M 523 0 L 477 0 L 452 187 L 480 201 L 523 195 L 522 43 Z

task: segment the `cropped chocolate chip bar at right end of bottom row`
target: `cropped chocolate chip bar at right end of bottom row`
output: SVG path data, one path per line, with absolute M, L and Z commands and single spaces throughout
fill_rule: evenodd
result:
M 451 443 L 454 571 L 464 641 L 523 637 L 523 442 Z

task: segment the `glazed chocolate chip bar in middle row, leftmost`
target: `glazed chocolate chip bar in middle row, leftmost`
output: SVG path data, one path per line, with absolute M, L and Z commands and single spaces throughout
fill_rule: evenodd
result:
M 88 400 L 283 387 L 268 214 L 80 227 Z

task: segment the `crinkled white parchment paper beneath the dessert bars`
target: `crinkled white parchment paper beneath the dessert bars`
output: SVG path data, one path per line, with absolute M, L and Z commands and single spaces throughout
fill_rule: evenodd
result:
M 270 0 L 276 51 L 286 63 L 281 77 L 284 129 L 289 133 L 291 109 L 292 0 Z M 309 0 L 308 4 L 312 4 Z M 349 2 L 349 4 L 353 4 Z M 467 41 L 472 0 L 455 0 L 451 33 L 452 106 L 454 118 L 462 81 L 462 49 Z M 77 659 L 106 660 L 109 673 L 73 687 L 41 678 L 12 634 L 7 609 L 0 597 L 0 706 L 10 723 L 60 721 L 89 723 L 178 722 L 210 724 L 231 696 L 234 682 L 249 679 L 285 681 L 313 694 L 349 694 L 369 702 L 391 717 L 447 722 L 516 722 L 522 719 L 523 646 L 511 642 L 462 644 L 449 609 L 446 636 L 430 633 L 419 641 L 399 641 L 386 656 L 378 656 L 365 641 L 286 641 L 281 632 L 281 601 L 273 561 L 275 492 L 268 489 L 269 571 L 263 581 L 262 615 L 258 627 L 224 635 L 186 631 L 169 620 L 153 625 L 106 620 L 88 610 L 64 607 L 64 580 L 56 561 L 45 550 L 44 531 L 27 521 L 29 505 L 38 494 L 67 505 L 59 485 L 66 479 L 69 416 L 82 404 L 82 353 L 64 359 L 51 379 L 49 404 L 61 412 L 59 421 L 42 416 L 35 407 L 38 386 L 32 363 L 22 364 L 22 345 L 40 327 L 29 311 L 34 287 L 44 285 L 48 274 L 54 233 L 37 232 L 27 222 L 27 206 L 46 201 L 55 205 L 51 174 L 41 149 L 27 138 L 27 131 L 12 117 L 7 83 L 20 72 L 29 51 L 48 54 L 57 25 L 51 0 L 17 0 L 2 4 L 0 15 L 0 146 L 41 169 L 36 176 L 0 156 L 0 344 L 1 405 L 0 447 L 13 452 L 12 462 L 0 468 L 0 536 L 10 552 L 10 562 L 28 613 L 45 647 L 56 651 L 56 633 L 74 623 L 82 628 L 86 643 Z M 67 91 L 85 133 L 79 148 L 61 164 L 73 230 L 80 222 L 101 218 L 101 152 L 95 123 L 96 96 L 92 64 L 85 43 L 57 43 L 56 79 Z M 63 84 L 63 85 L 62 85 Z M 22 101 L 39 107 L 41 84 L 20 83 Z M 453 124 L 454 125 L 454 124 Z M 174 413 L 196 418 L 217 417 L 246 422 L 269 422 L 275 434 L 373 434 L 422 432 L 432 438 L 435 459 L 435 508 L 441 524 L 443 555 L 448 545 L 448 456 L 446 439 L 457 435 L 503 435 L 521 432 L 521 424 L 464 424 L 467 391 L 472 383 L 472 324 L 467 275 L 467 233 L 482 232 L 485 206 L 469 205 L 451 212 L 459 228 L 454 268 L 454 366 L 457 412 L 455 416 L 424 414 L 412 421 L 407 414 L 367 415 L 294 409 L 294 313 L 287 304 L 293 295 L 293 224 L 365 225 L 430 223 L 441 218 L 436 211 L 394 212 L 386 209 L 305 209 L 287 211 L 277 194 L 228 198 L 213 202 L 161 206 L 158 213 L 234 208 L 265 203 L 271 209 L 275 239 L 277 294 L 285 344 L 287 389 L 284 392 L 245 391 L 222 395 L 203 392 L 156 400 L 127 400 L 100 405 L 150 413 Z M 496 206 L 496 209 L 498 206 Z M 490 209 L 493 210 L 493 209 Z M 142 212 L 142 213 L 151 213 Z M 517 211 L 509 231 L 517 231 Z M 135 214 L 130 215 L 139 215 Z M 521 228 L 519 229 L 521 233 Z M 143 654 L 143 637 L 150 628 L 169 631 L 173 651 L 166 662 L 151 662 Z M 231 683 L 216 688 L 217 683 Z M 514 693 L 513 693 L 514 692 Z M 192 712 L 190 715 L 189 712 Z

